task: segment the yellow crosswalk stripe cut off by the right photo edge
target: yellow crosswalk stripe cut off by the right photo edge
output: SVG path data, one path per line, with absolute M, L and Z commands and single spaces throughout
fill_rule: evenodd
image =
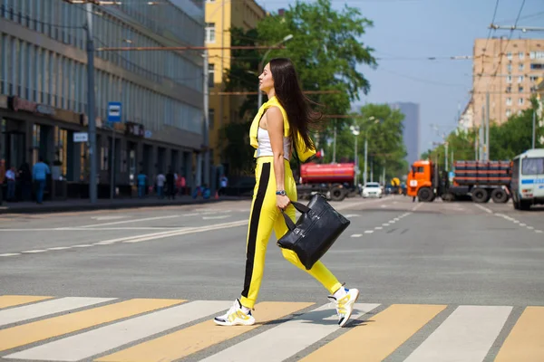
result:
M 500 348 L 495 362 L 541 362 L 544 358 L 544 307 L 527 307 Z

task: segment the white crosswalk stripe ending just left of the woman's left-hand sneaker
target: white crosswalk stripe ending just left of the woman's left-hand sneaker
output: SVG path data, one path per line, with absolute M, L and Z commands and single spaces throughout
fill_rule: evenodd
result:
M 220 310 L 226 310 L 231 303 L 232 300 L 196 300 L 62 338 L 6 357 L 44 361 L 79 361 L 179 327 Z

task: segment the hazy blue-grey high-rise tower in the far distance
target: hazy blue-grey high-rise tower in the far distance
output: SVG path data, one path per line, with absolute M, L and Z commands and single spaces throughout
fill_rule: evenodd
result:
M 412 102 L 396 102 L 391 104 L 393 110 L 400 110 L 404 115 L 403 139 L 406 147 L 406 161 L 412 165 L 420 157 L 420 110 L 419 104 Z

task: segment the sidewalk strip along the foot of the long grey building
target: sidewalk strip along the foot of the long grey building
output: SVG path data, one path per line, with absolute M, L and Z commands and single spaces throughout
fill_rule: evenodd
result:
M 191 196 L 176 197 L 175 200 L 158 199 L 156 196 L 147 198 L 122 198 L 122 199 L 98 199 L 96 204 L 91 204 L 89 199 L 69 199 L 66 201 L 44 201 L 44 204 L 38 205 L 34 202 L 7 203 L 0 205 L 0 214 L 39 214 L 39 213 L 62 213 L 71 211 L 92 211 L 92 210 L 112 210 L 135 207 L 152 206 L 171 206 L 171 205 L 199 205 L 213 204 L 221 201 L 244 200 L 248 197 L 238 196 L 220 196 L 218 200 L 209 198 L 204 200 L 202 197 L 193 199 Z

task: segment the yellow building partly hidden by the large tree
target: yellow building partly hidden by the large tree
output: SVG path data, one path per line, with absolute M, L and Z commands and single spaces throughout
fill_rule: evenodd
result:
M 206 45 L 209 47 L 228 48 L 230 29 L 242 28 L 245 31 L 257 27 L 260 19 L 266 16 L 265 10 L 254 0 L 206 0 Z M 220 149 L 224 148 L 224 139 L 220 138 L 220 129 L 231 121 L 237 121 L 238 108 L 244 96 L 214 95 L 224 90 L 223 74 L 230 69 L 232 62 L 229 49 L 209 51 L 209 141 L 212 148 L 214 165 L 224 162 Z M 257 70 L 255 70 L 257 73 Z M 258 80 L 255 77 L 255 91 Z

